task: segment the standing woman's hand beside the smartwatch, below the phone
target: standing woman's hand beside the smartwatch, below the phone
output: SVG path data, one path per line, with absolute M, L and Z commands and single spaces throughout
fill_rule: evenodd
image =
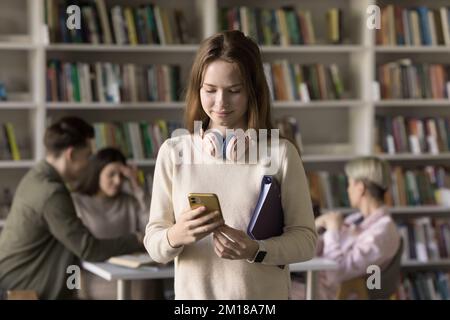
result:
M 252 260 L 258 251 L 258 243 L 245 232 L 223 225 L 214 231 L 214 251 L 220 258 Z

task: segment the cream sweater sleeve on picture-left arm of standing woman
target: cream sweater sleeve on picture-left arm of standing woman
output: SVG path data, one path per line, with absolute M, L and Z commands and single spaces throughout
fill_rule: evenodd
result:
M 150 257 L 159 263 L 168 263 L 183 250 L 183 247 L 173 248 L 167 239 L 167 231 L 175 224 L 172 204 L 173 162 L 169 141 L 166 140 L 158 151 L 153 178 L 150 217 L 144 237 L 144 245 Z

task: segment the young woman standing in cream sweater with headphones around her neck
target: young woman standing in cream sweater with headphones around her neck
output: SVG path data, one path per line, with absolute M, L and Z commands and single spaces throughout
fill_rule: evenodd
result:
M 246 230 L 270 171 L 264 161 L 238 163 L 226 134 L 272 129 L 258 46 L 239 31 L 206 39 L 192 66 L 186 103 L 190 134 L 168 139 L 156 160 L 144 238 L 150 256 L 161 263 L 175 259 L 176 299 L 288 299 L 289 268 L 279 266 L 311 259 L 317 238 L 300 155 L 286 139 L 270 149 L 271 159 L 275 153 L 280 159 L 273 176 L 281 185 L 284 228 L 280 236 L 255 241 Z M 199 137 L 194 121 L 204 129 Z M 197 138 L 204 148 L 190 144 Z M 180 145 L 191 145 L 194 158 L 200 154 L 207 164 L 177 161 Z M 204 207 L 191 210 L 192 192 L 217 194 L 223 220 L 218 212 L 205 215 Z

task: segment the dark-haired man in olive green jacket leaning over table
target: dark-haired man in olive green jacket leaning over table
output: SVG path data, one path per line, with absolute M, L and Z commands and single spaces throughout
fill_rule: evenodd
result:
M 144 250 L 137 234 L 96 239 L 77 217 L 67 186 L 86 168 L 93 136 L 92 126 L 76 117 L 46 130 L 46 158 L 22 178 L 0 234 L 0 288 L 73 298 L 66 284 L 70 265 Z

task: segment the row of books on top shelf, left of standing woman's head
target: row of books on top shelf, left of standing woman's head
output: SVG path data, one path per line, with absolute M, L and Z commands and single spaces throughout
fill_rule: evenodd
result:
M 81 28 L 66 26 L 69 5 L 81 8 Z M 45 21 L 51 42 L 92 44 L 192 43 L 187 21 L 179 9 L 156 4 L 106 6 L 105 0 L 45 2 Z

